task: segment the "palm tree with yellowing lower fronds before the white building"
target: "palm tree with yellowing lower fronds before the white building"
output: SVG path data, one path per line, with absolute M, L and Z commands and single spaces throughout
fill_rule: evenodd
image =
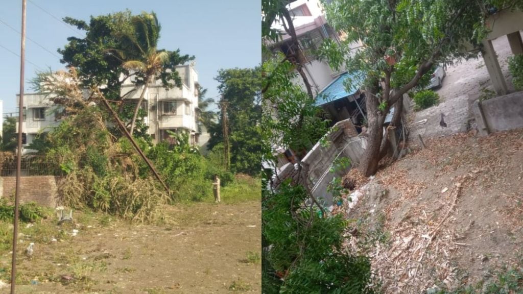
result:
M 158 51 L 156 46 L 160 39 L 161 26 L 154 12 L 143 12 L 131 18 L 133 29 L 121 36 L 123 49 L 115 49 L 124 60 L 122 66 L 134 71 L 138 78 L 138 85 L 143 85 L 138 104 L 134 108 L 131 120 L 132 135 L 142 105 L 145 92 L 155 76 L 161 72 L 162 66 L 169 60 L 169 53 L 165 50 Z

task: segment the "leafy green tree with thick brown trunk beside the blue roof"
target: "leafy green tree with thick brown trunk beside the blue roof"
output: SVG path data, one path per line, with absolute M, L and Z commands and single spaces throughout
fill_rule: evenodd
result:
M 367 176 L 377 172 L 388 139 L 383 123 L 389 110 L 402 108 L 403 95 L 439 63 L 470 58 L 466 44 L 485 36 L 485 18 L 494 10 L 513 8 L 520 1 L 468 0 L 334 0 L 323 1 L 327 21 L 346 34 L 341 44 L 326 40 L 320 57 L 334 69 L 353 75 L 347 84 L 361 83 L 366 94 L 368 145 L 360 162 Z M 495 7 L 493 10 L 492 8 Z M 348 44 L 363 43 L 349 52 Z M 350 54 L 349 54 L 350 53 Z

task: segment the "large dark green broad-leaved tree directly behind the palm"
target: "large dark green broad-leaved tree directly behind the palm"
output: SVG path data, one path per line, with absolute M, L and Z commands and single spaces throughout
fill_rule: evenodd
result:
M 167 54 L 167 58 L 165 56 L 156 59 L 144 58 L 147 54 L 143 54 L 145 52 L 143 49 L 150 47 L 147 44 L 144 45 L 147 40 L 137 40 L 142 52 L 135 46 L 136 44 L 133 44 L 133 38 L 139 38 L 140 32 L 142 32 L 143 37 L 143 32 L 147 33 L 147 30 L 149 30 L 147 27 L 137 29 L 140 18 L 145 18 L 144 22 L 149 22 L 149 25 L 157 24 L 156 17 L 150 17 L 152 14 L 142 13 L 133 16 L 129 10 L 126 10 L 103 16 L 92 16 L 89 23 L 70 17 L 64 18 L 64 21 L 68 24 L 85 31 L 86 36 L 85 38 L 67 38 L 69 42 L 63 49 L 58 50 L 62 54 L 61 62 L 78 69 L 84 86 L 100 87 L 104 96 L 112 101 L 115 109 L 118 109 L 120 118 L 126 122 L 132 122 L 136 108 L 123 104 L 123 99 L 133 91 L 121 93 L 121 86 L 130 77 L 135 77 L 131 79 L 135 85 L 135 90 L 143 87 L 146 81 L 145 72 L 137 71 L 133 65 L 138 64 L 129 63 L 129 61 L 146 63 L 147 61 L 157 62 L 162 60 L 161 65 L 153 66 L 155 69 L 158 67 L 160 69 L 152 78 L 154 81 L 160 80 L 165 88 L 173 88 L 175 86 L 181 87 L 181 78 L 175 67 L 194 59 L 194 56 L 181 55 L 179 49 L 174 51 L 156 50 L 156 53 L 166 52 L 161 55 Z M 159 29 L 157 32 L 159 33 Z M 152 57 L 152 55 L 149 55 L 149 57 Z M 142 67 L 142 69 L 144 68 Z M 147 126 L 138 117 L 141 118 L 140 112 L 134 119 L 133 132 L 136 134 L 138 128 L 140 134 L 146 134 Z

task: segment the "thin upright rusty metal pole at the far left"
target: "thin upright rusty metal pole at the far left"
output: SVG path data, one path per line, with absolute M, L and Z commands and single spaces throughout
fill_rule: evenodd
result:
M 18 148 L 16 157 L 15 219 L 13 221 L 13 260 L 11 262 L 11 294 L 15 294 L 16 243 L 18 237 L 18 204 L 22 162 L 22 123 L 24 123 L 24 67 L 26 55 L 26 0 L 22 0 L 22 32 L 20 41 L 20 100 L 18 101 Z

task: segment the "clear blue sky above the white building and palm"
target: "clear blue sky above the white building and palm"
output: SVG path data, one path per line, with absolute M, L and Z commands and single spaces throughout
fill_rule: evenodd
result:
M 133 14 L 153 10 L 162 25 L 158 48 L 179 48 L 182 54 L 195 55 L 199 82 L 208 88 L 207 97 L 219 95 L 218 83 L 214 81 L 219 69 L 254 67 L 261 61 L 261 4 L 257 0 L 27 0 L 27 37 L 53 54 L 26 40 L 26 92 L 33 92 L 28 81 L 39 68 L 58 70 L 64 67 L 56 49 L 66 44 L 67 37 L 79 36 L 76 30 L 35 4 L 59 19 L 70 16 L 87 21 L 91 15 L 126 8 Z M 3 1 L 0 9 L 0 64 L 3 67 L 0 99 L 4 100 L 3 112 L 14 112 L 20 87 L 20 58 L 5 48 L 19 54 L 20 35 L 4 22 L 20 31 L 21 0 Z

